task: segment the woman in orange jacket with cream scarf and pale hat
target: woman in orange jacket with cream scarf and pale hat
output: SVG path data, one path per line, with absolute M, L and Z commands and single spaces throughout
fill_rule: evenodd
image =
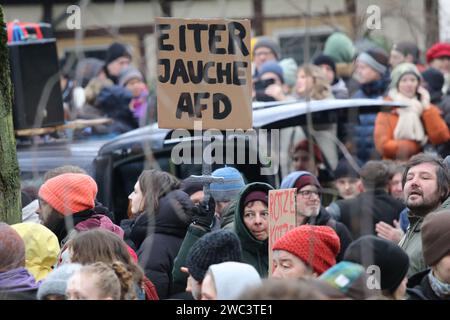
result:
M 420 85 L 421 75 L 412 63 L 402 63 L 391 74 L 388 101 L 403 102 L 405 108 L 379 112 L 374 141 L 384 159 L 408 160 L 426 145 L 450 140 L 450 132 L 438 107 L 430 104 L 430 94 Z

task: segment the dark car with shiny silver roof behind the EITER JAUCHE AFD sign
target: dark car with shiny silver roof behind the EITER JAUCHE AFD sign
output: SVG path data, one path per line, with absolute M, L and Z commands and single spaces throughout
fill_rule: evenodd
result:
M 392 106 L 400 104 L 369 99 L 255 103 L 254 130 L 244 133 L 216 132 L 214 135 L 216 139 L 214 142 L 220 147 L 216 148 L 213 156 L 222 158 L 219 150 L 221 149 L 224 157 L 223 163 L 213 163 L 212 170 L 228 164 L 240 170 L 248 182 L 262 181 L 279 186 L 282 177 L 287 173 L 283 166 L 289 165 L 290 159 L 285 157 L 279 163 L 274 163 L 273 159 L 279 156 L 279 150 L 289 150 L 289 145 L 296 141 L 282 140 L 279 146 L 281 149 L 277 148 L 274 154 L 267 153 L 265 151 L 275 145 L 269 138 L 267 148 L 261 148 L 260 140 L 264 136 L 259 135 L 264 129 L 270 137 L 274 133 L 273 129 L 293 130 L 300 126 L 305 127 L 308 111 L 311 112 L 311 120 L 316 125 L 346 123 L 350 121 L 349 119 L 357 119 L 354 117 L 355 112 L 372 113 Z M 71 144 L 47 144 L 35 148 L 34 151 L 30 147 L 18 148 L 21 177 L 24 182 L 32 179 L 36 183 L 45 171 L 56 166 L 64 164 L 81 166 L 97 181 L 98 200 L 114 211 L 116 219 L 120 220 L 126 217 L 128 195 L 143 169 L 159 168 L 180 179 L 192 174 L 201 174 L 201 153 L 199 156 L 197 150 L 196 154 L 196 148 L 201 146 L 201 142 L 197 144 L 195 142 L 201 140 L 201 137 L 192 131 L 184 130 L 181 133 L 184 137 L 173 136 L 174 130 L 159 129 L 153 124 L 112 140 L 103 137 Z M 233 141 L 234 144 L 231 149 L 227 149 L 227 144 L 230 147 L 230 143 L 222 144 L 221 141 Z M 180 149 L 180 146 L 185 146 L 184 151 L 176 154 L 182 155 L 185 159 L 189 158 L 189 164 L 179 163 L 176 159 L 174 161 L 172 152 L 174 148 Z M 185 154 L 188 150 L 191 151 L 190 155 Z M 243 151 L 245 151 L 244 158 L 242 158 Z M 261 153 L 268 155 L 272 161 L 268 161 L 267 157 L 261 157 Z M 273 170 L 269 170 L 270 174 L 262 172 L 262 169 L 268 170 L 271 167 Z

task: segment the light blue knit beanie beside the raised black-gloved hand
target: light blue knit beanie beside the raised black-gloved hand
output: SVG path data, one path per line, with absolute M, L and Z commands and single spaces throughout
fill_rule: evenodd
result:
M 241 173 L 232 167 L 225 167 L 215 170 L 214 177 L 223 177 L 223 183 L 211 183 L 211 195 L 216 201 L 231 201 L 237 197 L 241 189 L 245 186 Z

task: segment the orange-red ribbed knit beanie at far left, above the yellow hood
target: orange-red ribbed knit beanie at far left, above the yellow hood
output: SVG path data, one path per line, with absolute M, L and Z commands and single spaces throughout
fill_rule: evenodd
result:
M 39 189 L 39 197 L 62 215 L 94 208 L 96 196 L 97 183 L 81 173 L 61 174 Z

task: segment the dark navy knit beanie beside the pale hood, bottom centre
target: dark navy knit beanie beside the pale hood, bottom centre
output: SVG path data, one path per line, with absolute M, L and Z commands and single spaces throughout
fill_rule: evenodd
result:
M 187 255 L 186 267 L 195 280 L 202 282 L 209 266 L 241 260 L 241 243 L 237 235 L 228 230 L 218 230 L 204 235 L 194 243 Z

